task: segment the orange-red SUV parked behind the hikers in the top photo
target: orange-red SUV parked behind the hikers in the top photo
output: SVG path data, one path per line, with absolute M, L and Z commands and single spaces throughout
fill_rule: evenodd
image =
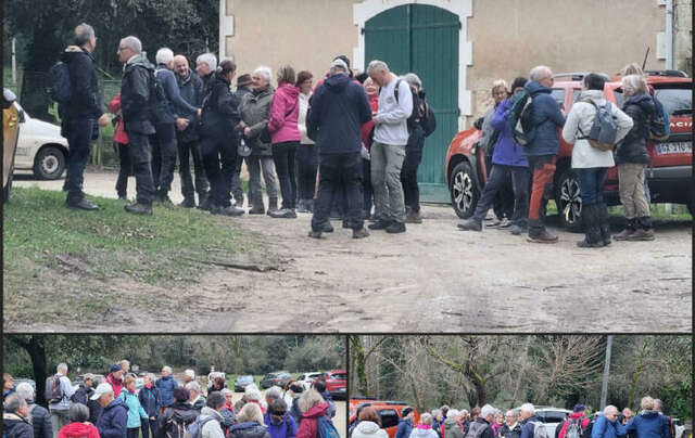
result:
M 685 204 L 693 212 L 693 79 L 678 70 L 647 72 L 647 83 L 654 87 L 656 96 L 669 112 L 671 134 L 664 142 L 649 142 L 652 165 L 647 178 L 652 203 Z M 553 85 L 553 96 L 565 114 L 579 98 L 583 74 L 571 74 L 567 81 Z M 620 77 L 606 82 L 606 100 L 622 107 L 624 98 Z M 571 168 L 572 145 L 560 140 L 555 170 L 553 195 L 563 227 L 582 231 L 579 180 Z M 458 132 L 446 152 L 445 172 L 454 210 L 460 218 L 470 217 L 476 210 L 481 190 L 488 180 L 484 153 L 478 146 L 481 132 L 475 128 Z M 618 169 L 608 169 L 604 198 L 607 205 L 619 205 Z

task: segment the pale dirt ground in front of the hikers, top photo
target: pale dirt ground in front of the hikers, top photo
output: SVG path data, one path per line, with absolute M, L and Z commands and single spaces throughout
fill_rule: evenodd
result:
M 114 180 L 113 173 L 89 173 L 86 190 L 113 197 Z M 60 190 L 62 181 L 16 185 Z M 177 188 L 172 197 L 180 198 Z M 117 284 L 126 295 L 159 294 L 160 312 L 129 311 L 124 319 L 114 309 L 101 328 L 130 331 L 137 322 L 138 331 L 193 332 L 692 330 L 688 222 L 659 226 L 654 242 L 581 250 L 578 234 L 556 229 L 558 244 L 534 245 L 494 229 L 459 232 L 450 207 L 426 206 L 424 216 L 425 223 L 407 233 L 372 232 L 361 241 L 340 222 L 327 239 L 308 239 L 308 215 L 229 219 L 255 233 L 256 257 L 279 270 L 215 268 L 185 296 Z M 70 324 L 66 330 L 81 330 Z

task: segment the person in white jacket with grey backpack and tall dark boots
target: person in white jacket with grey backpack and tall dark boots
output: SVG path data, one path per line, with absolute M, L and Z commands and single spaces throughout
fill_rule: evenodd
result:
M 563 138 L 574 144 L 572 169 L 579 179 L 582 199 L 581 217 L 584 222 L 584 240 L 579 247 L 602 247 L 610 244 L 608 209 L 604 202 L 604 183 L 609 167 L 615 166 L 612 151 L 602 151 L 587 140 L 598 107 L 607 105 L 616 123 L 616 143 L 632 128 L 632 118 L 618 106 L 604 99 L 604 76 L 590 73 L 584 76 L 582 92 L 572 105 L 563 128 Z M 593 102 L 593 103 L 592 103 Z

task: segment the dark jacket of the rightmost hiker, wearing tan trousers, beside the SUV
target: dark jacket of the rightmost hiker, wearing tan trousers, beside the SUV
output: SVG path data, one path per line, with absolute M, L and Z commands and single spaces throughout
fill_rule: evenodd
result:
M 622 111 L 632 117 L 632 129 L 618 143 L 616 149 L 617 164 L 649 163 L 647 139 L 649 138 L 649 120 L 654 117 L 654 100 L 649 94 L 632 95 L 626 100 Z

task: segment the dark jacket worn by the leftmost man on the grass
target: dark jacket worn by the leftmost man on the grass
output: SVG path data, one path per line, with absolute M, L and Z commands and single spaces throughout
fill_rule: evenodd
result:
M 68 46 L 61 61 L 67 64 L 72 96 L 70 102 L 60 107 L 63 119 L 98 119 L 104 112 L 101 110 L 99 80 L 97 79 L 97 61 L 87 50 L 77 46 Z

